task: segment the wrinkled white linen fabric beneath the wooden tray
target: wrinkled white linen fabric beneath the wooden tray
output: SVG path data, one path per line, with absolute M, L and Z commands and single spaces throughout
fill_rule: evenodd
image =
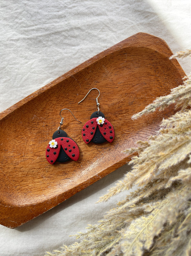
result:
M 95 54 L 137 33 L 191 47 L 190 0 L 1 0 L 0 111 Z M 190 60 L 180 60 L 190 72 Z M 16 117 L 15 117 L 16 121 Z M 130 170 L 125 165 L 36 219 L 0 226 L 0 255 L 42 256 L 75 242 L 70 234 L 96 224 L 128 192 L 95 204 Z

